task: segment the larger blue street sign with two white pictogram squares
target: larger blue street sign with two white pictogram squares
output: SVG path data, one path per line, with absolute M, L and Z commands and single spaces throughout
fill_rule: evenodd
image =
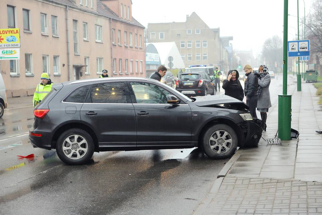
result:
M 289 57 L 310 56 L 310 40 L 295 40 L 287 42 Z

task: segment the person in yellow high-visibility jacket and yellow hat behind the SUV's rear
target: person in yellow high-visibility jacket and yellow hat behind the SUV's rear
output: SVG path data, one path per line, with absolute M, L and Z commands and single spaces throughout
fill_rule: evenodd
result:
M 40 76 L 41 83 L 37 84 L 36 91 L 33 93 L 33 107 L 43 100 L 43 98 L 52 90 L 52 80 L 49 79 L 47 73 Z

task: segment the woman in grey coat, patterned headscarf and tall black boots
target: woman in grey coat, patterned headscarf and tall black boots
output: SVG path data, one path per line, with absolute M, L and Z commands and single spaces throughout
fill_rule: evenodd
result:
M 260 77 L 258 78 L 258 102 L 257 110 L 260 112 L 263 131 L 266 131 L 266 119 L 268 109 L 272 106 L 270 103 L 270 75 L 266 65 L 260 65 L 258 68 Z

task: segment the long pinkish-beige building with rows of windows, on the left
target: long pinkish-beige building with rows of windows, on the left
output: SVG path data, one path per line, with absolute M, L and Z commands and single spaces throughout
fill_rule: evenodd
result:
M 103 69 L 145 77 L 144 26 L 131 7 L 131 0 L 2 0 L 0 29 L 19 28 L 21 43 L 20 60 L 0 60 L 7 97 L 33 95 L 43 72 L 54 83 L 97 78 Z

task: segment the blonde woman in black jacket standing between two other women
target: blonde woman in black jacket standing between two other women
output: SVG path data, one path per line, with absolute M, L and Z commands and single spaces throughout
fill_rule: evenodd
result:
M 245 81 L 244 93 L 246 96 L 246 104 L 249 107 L 249 111 L 251 112 L 251 116 L 253 118 L 257 118 L 256 115 L 256 107 L 258 100 L 258 73 L 254 72 L 251 65 L 246 64 L 244 66 L 245 75 L 247 79 Z

